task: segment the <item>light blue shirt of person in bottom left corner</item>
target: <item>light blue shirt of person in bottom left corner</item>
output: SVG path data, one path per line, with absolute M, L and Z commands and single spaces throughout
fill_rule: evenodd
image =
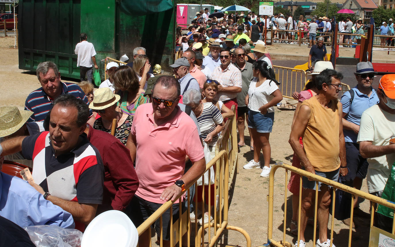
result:
M 20 227 L 56 225 L 74 228 L 69 212 L 44 199 L 21 178 L 0 172 L 0 216 Z

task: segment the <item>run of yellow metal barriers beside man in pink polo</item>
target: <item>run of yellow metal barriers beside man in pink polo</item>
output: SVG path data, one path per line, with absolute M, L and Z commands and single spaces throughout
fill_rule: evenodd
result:
M 234 112 L 234 107 L 232 107 L 231 110 Z M 237 149 L 234 149 L 234 147 L 237 147 L 237 140 L 234 139 L 237 137 L 235 119 L 236 117 L 233 117 L 232 119 L 228 119 L 228 121 L 226 121 L 226 128 L 222 131 L 220 139 L 217 142 L 216 156 L 206 165 L 205 171 L 208 172 L 209 178 L 211 177 L 210 168 L 212 166 L 215 167 L 214 171 L 216 179 L 214 180 L 214 184 L 204 185 L 205 183 L 209 184 L 209 181 L 205 182 L 205 178 L 202 174 L 201 184 L 203 185 L 200 186 L 201 189 L 199 189 L 201 193 L 194 193 L 194 190 L 198 188 L 198 179 L 188 185 L 185 193 L 186 200 L 182 203 L 179 203 L 178 215 L 173 215 L 172 207 L 173 203 L 177 201 L 178 198 L 175 199 L 175 201 L 167 201 L 164 203 L 160 208 L 158 208 L 158 210 L 156 210 L 156 212 L 154 212 L 154 214 L 152 214 L 146 221 L 137 227 L 137 232 L 139 233 L 140 238 L 139 241 L 149 241 L 149 247 L 151 247 L 151 228 L 152 225 L 155 224 L 155 222 L 159 219 L 161 233 L 160 236 L 157 236 L 156 243 L 160 247 L 164 246 L 162 215 L 166 212 L 166 210 L 169 210 L 170 247 L 175 246 L 177 243 L 181 243 L 179 245 L 184 247 L 213 247 L 217 244 L 218 238 L 224 230 L 236 230 L 241 232 L 246 238 L 246 247 L 251 247 L 250 236 L 247 234 L 247 232 L 245 232 L 245 230 L 239 227 L 228 225 L 229 185 L 231 184 L 231 180 L 233 180 L 233 175 L 230 175 L 234 174 L 235 165 L 237 165 Z M 224 149 L 220 150 L 220 148 Z M 233 172 L 231 170 L 233 170 Z M 194 185 L 194 187 L 192 187 L 192 185 Z M 192 221 L 190 220 L 190 204 L 192 202 L 193 193 L 193 198 L 195 201 L 193 212 L 196 216 L 195 220 Z M 208 193 L 208 199 L 205 199 L 205 193 Z M 212 197 L 214 200 L 211 199 Z M 200 211 L 199 213 L 198 210 Z M 213 217 L 213 220 L 206 224 L 203 223 L 204 225 L 200 226 L 198 224 L 198 218 L 203 217 L 204 212 L 208 212 L 209 218 Z M 147 239 L 142 240 L 141 235 L 146 230 L 149 231 L 149 234 L 145 234 Z

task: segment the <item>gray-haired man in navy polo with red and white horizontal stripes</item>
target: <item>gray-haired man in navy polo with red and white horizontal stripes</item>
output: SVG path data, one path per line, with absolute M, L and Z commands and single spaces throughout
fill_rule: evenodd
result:
M 43 122 L 48 112 L 52 109 L 52 102 L 63 94 L 71 94 L 75 98 L 83 100 L 87 105 L 88 98 L 81 87 L 70 82 L 60 81 L 60 72 L 55 63 L 51 61 L 39 63 L 37 66 L 37 78 L 41 87 L 28 95 L 24 110 L 33 111 L 28 122 Z M 95 119 L 92 110 L 89 110 L 89 124 L 93 125 Z

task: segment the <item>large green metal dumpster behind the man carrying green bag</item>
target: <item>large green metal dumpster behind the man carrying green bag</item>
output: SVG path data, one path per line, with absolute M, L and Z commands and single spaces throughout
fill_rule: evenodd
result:
M 95 47 L 102 79 L 102 59 L 119 59 L 126 54 L 132 61 L 137 46 L 147 49 L 151 64 L 168 70 L 175 46 L 175 4 L 171 2 L 166 11 L 154 12 L 154 8 L 145 13 L 130 12 L 115 0 L 20 0 L 19 69 L 36 71 L 40 62 L 53 61 L 63 77 L 79 78 L 74 49 L 80 33 L 85 32 Z M 147 5 L 143 7 L 152 7 Z

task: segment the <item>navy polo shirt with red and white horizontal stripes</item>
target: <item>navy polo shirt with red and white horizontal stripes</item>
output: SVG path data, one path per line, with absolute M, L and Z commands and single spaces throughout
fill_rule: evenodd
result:
M 87 104 L 88 98 L 85 96 L 85 93 L 82 91 L 81 87 L 77 84 L 70 82 L 60 82 L 62 85 L 62 94 L 70 93 L 76 98 L 80 98 L 84 100 Z M 52 109 L 53 100 L 49 98 L 49 96 L 44 92 L 43 88 L 31 92 L 29 96 L 26 98 L 25 102 L 25 110 L 33 111 L 31 117 L 29 117 L 28 122 L 42 122 L 44 121 L 47 113 Z M 89 115 L 92 116 L 92 110 L 89 109 Z

